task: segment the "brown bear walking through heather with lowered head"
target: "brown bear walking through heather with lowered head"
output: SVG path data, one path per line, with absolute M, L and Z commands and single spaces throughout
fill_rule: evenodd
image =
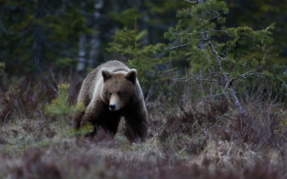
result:
M 74 114 L 76 128 L 92 124 L 94 133 L 100 126 L 115 135 L 124 116 L 127 137 L 145 139 L 148 114 L 137 70 L 116 60 L 101 64 L 83 81 L 77 101 L 83 102 L 86 111 Z

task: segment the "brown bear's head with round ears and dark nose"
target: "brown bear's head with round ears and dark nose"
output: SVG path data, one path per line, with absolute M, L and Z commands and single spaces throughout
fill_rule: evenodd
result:
M 128 72 L 111 72 L 106 68 L 102 69 L 103 88 L 101 98 L 106 104 L 109 104 L 111 111 L 118 111 L 128 107 L 139 98 L 137 70 L 131 69 Z

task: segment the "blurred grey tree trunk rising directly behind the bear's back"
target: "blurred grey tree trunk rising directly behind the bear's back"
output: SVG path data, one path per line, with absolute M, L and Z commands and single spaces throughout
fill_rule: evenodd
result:
M 89 54 L 89 61 L 88 67 L 94 68 L 97 64 L 97 58 L 99 54 L 99 47 L 100 47 L 100 19 L 101 13 L 100 10 L 103 8 L 104 2 L 103 0 L 94 0 L 94 25 L 93 30 L 97 32 L 91 36 L 90 45 L 91 51 Z

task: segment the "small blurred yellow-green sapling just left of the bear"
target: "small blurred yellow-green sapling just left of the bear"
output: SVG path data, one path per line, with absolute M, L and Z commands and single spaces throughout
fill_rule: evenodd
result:
M 59 97 L 52 100 L 51 104 L 47 105 L 44 109 L 45 115 L 51 117 L 69 117 L 74 112 L 80 112 L 85 110 L 83 103 L 78 103 L 75 105 L 68 104 L 68 91 L 69 84 L 61 83 L 58 85 L 58 95 Z

